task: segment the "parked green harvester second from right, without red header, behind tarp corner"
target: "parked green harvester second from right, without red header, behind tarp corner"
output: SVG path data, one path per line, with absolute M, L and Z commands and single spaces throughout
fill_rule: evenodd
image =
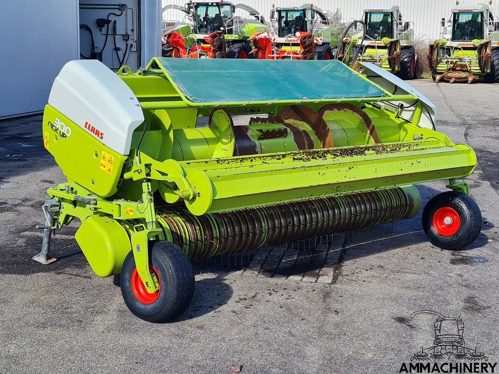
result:
M 414 23 L 404 21 L 397 5 L 364 8 L 363 33 L 350 37 L 345 31 L 338 59 L 355 67 L 357 62 L 371 62 L 404 80 L 417 78 L 418 55 L 414 48 Z

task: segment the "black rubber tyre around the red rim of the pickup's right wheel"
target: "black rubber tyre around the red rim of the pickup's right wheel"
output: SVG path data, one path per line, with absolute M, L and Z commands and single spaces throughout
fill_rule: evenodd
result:
M 439 234 L 433 226 L 433 215 L 438 208 L 454 208 L 461 219 L 461 227 L 452 236 Z M 433 245 L 449 250 L 461 250 L 477 239 L 482 230 L 482 212 L 477 203 L 468 195 L 447 191 L 434 196 L 423 209 L 423 230 Z

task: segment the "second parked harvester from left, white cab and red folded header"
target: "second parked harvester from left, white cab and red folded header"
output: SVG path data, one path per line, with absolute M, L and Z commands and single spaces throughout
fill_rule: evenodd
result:
M 330 60 L 338 46 L 338 28 L 312 3 L 273 6 L 272 32 L 251 37 L 259 59 Z

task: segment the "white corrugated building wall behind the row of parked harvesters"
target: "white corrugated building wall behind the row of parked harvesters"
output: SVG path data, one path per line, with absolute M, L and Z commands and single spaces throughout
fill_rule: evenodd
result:
M 234 3 L 245 3 L 264 16 L 268 17 L 272 3 L 288 4 L 299 3 L 299 0 L 232 0 Z M 303 3 L 305 3 L 304 0 Z M 163 6 L 167 4 L 184 5 L 185 0 L 163 0 Z M 488 0 L 461 0 L 461 4 L 477 4 L 478 2 L 488 2 Z M 348 22 L 353 19 L 360 19 L 362 8 L 367 5 L 393 4 L 399 5 L 400 11 L 405 21 L 413 21 L 415 24 L 416 38 L 419 40 L 429 40 L 440 37 L 440 21 L 443 17 L 449 19 L 451 8 L 455 6 L 455 0 L 313 0 L 313 3 L 322 10 L 335 11 L 340 9 L 343 21 Z M 492 4 L 494 15 L 499 16 L 499 0 L 494 0 Z M 242 13 L 243 15 L 244 13 Z M 164 13 L 163 19 L 182 20 L 183 13 L 178 10 L 168 10 Z

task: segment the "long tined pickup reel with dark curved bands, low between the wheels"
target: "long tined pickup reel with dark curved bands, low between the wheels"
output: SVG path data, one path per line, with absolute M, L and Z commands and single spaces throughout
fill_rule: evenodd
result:
M 200 259 L 410 218 L 419 210 L 413 186 L 345 193 L 196 216 L 159 209 L 168 240 Z

